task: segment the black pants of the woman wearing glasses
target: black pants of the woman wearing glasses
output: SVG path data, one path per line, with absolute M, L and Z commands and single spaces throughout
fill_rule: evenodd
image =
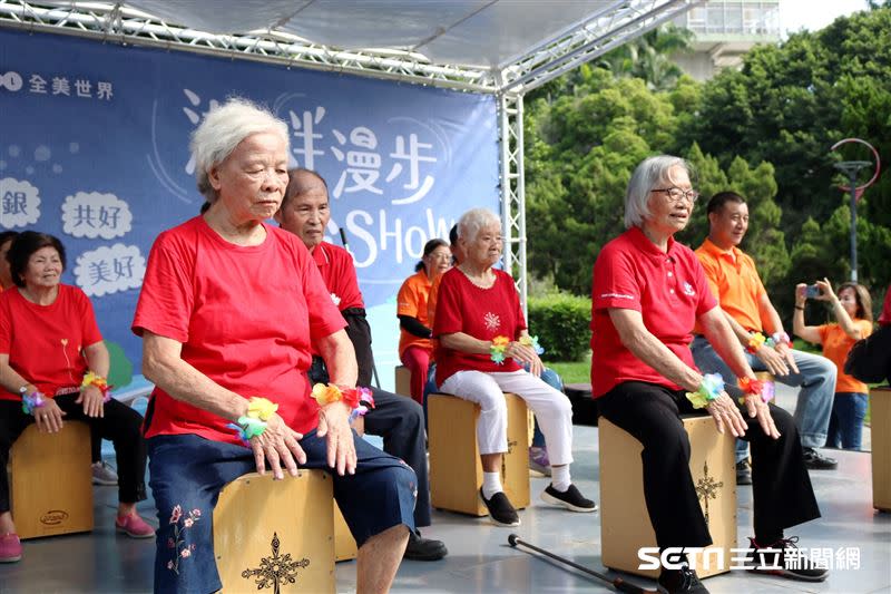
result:
M 644 446 L 644 497 L 660 548 L 712 544 L 693 477 L 689 440 L 681 413 L 697 412 L 684 391 L 629 381 L 597 399 L 600 415 Z M 792 416 L 770 405 L 780 439 L 761 429 L 743 409 L 752 448 L 755 536 L 781 537 L 783 529 L 820 517 Z M 726 429 L 725 429 L 726 430 Z M 773 542 L 773 541 L 771 541 Z

